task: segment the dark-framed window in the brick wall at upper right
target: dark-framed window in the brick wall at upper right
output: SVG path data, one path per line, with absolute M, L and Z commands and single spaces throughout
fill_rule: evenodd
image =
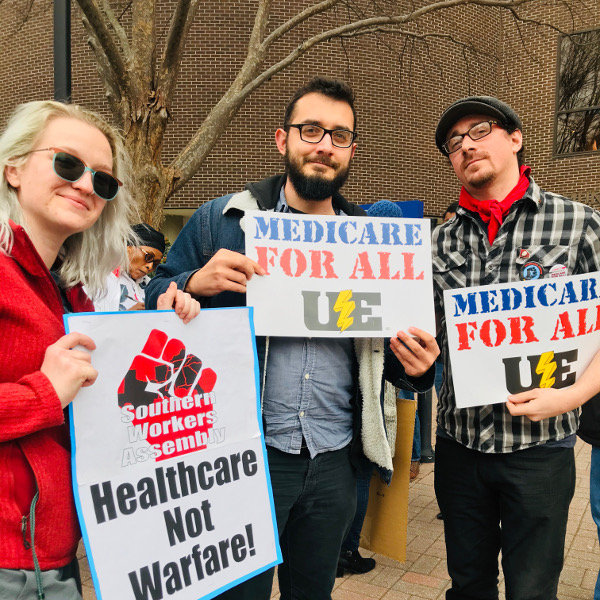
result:
M 560 38 L 556 154 L 600 150 L 600 30 Z

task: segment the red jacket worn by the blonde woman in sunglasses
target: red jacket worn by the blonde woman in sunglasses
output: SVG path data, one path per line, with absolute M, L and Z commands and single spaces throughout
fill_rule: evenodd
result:
M 26 546 L 37 486 L 35 548 L 40 568 L 48 570 L 73 560 L 80 538 L 69 432 L 60 400 L 39 370 L 46 348 L 65 334 L 64 311 L 31 240 L 22 227 L 11 226 L 11 255 L 0 254 L 0 568 L 33 569 Z M 94 310 L 81 286 L 68 297 L 75 311 Z

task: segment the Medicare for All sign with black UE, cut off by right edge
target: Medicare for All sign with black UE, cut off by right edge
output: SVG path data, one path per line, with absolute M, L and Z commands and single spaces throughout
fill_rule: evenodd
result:
M 572 385 L 600 348 L 600 274 L 444 291 L 458 408 Z

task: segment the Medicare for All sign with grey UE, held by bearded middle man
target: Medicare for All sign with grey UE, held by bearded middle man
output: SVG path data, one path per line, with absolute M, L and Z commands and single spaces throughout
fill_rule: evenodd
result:
M 258 335 L 391 337 L 435 330 L 427 219 L 248 211 L 247 303 Z

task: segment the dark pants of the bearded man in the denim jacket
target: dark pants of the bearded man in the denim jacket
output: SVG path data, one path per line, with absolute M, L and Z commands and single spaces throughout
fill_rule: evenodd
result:
M 356 510 L 350 448 L 314 459 L 267 447 L 283 563 L 281 600 L 330 600 L 337 561 Z M 268 600 L 274 569 L 228 590 L 219 600 Z

